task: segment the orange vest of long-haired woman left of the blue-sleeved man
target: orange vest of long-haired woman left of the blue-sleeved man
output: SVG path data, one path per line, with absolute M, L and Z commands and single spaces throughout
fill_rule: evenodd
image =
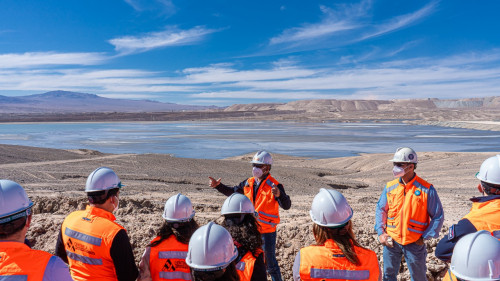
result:
M 360 265 L 351 263 L 335 241 L 300 249 L 300 280 L 370 280 L 378 281 L 380 268 L 374 251 L 354 246 Z

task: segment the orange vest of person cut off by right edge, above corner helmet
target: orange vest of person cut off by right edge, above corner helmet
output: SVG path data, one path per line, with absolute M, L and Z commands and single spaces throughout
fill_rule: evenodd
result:
M 470 212 L 464 216 L 476 230 L 487 230 L 500 239 L 500 200 L 474 202 Z

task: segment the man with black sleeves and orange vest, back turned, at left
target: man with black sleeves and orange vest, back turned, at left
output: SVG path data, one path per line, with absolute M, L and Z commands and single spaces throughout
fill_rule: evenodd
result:
M 64 220 L 56 254 L 69 263 L 75 281 L 135 281 L 139 272 L 123 226 L 115 222 L 121 181 L 101 167 L 87 178 L 90 205 Z

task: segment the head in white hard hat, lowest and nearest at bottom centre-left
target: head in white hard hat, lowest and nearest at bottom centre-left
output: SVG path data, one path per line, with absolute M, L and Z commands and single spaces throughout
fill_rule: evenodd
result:
M 191 237 L 186 263 L 191 268 L 193 281 L 239 281 L 237 257 L 238 250 L 231 234 L 224 227 L 209 222 Z

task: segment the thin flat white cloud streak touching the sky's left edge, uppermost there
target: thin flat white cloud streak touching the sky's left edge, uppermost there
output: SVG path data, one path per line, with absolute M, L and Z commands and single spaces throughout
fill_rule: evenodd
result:
M 103 53 L 31 52 L 0 54 L 0 68 L 57 65 L 98 65 L 109 60 Z

